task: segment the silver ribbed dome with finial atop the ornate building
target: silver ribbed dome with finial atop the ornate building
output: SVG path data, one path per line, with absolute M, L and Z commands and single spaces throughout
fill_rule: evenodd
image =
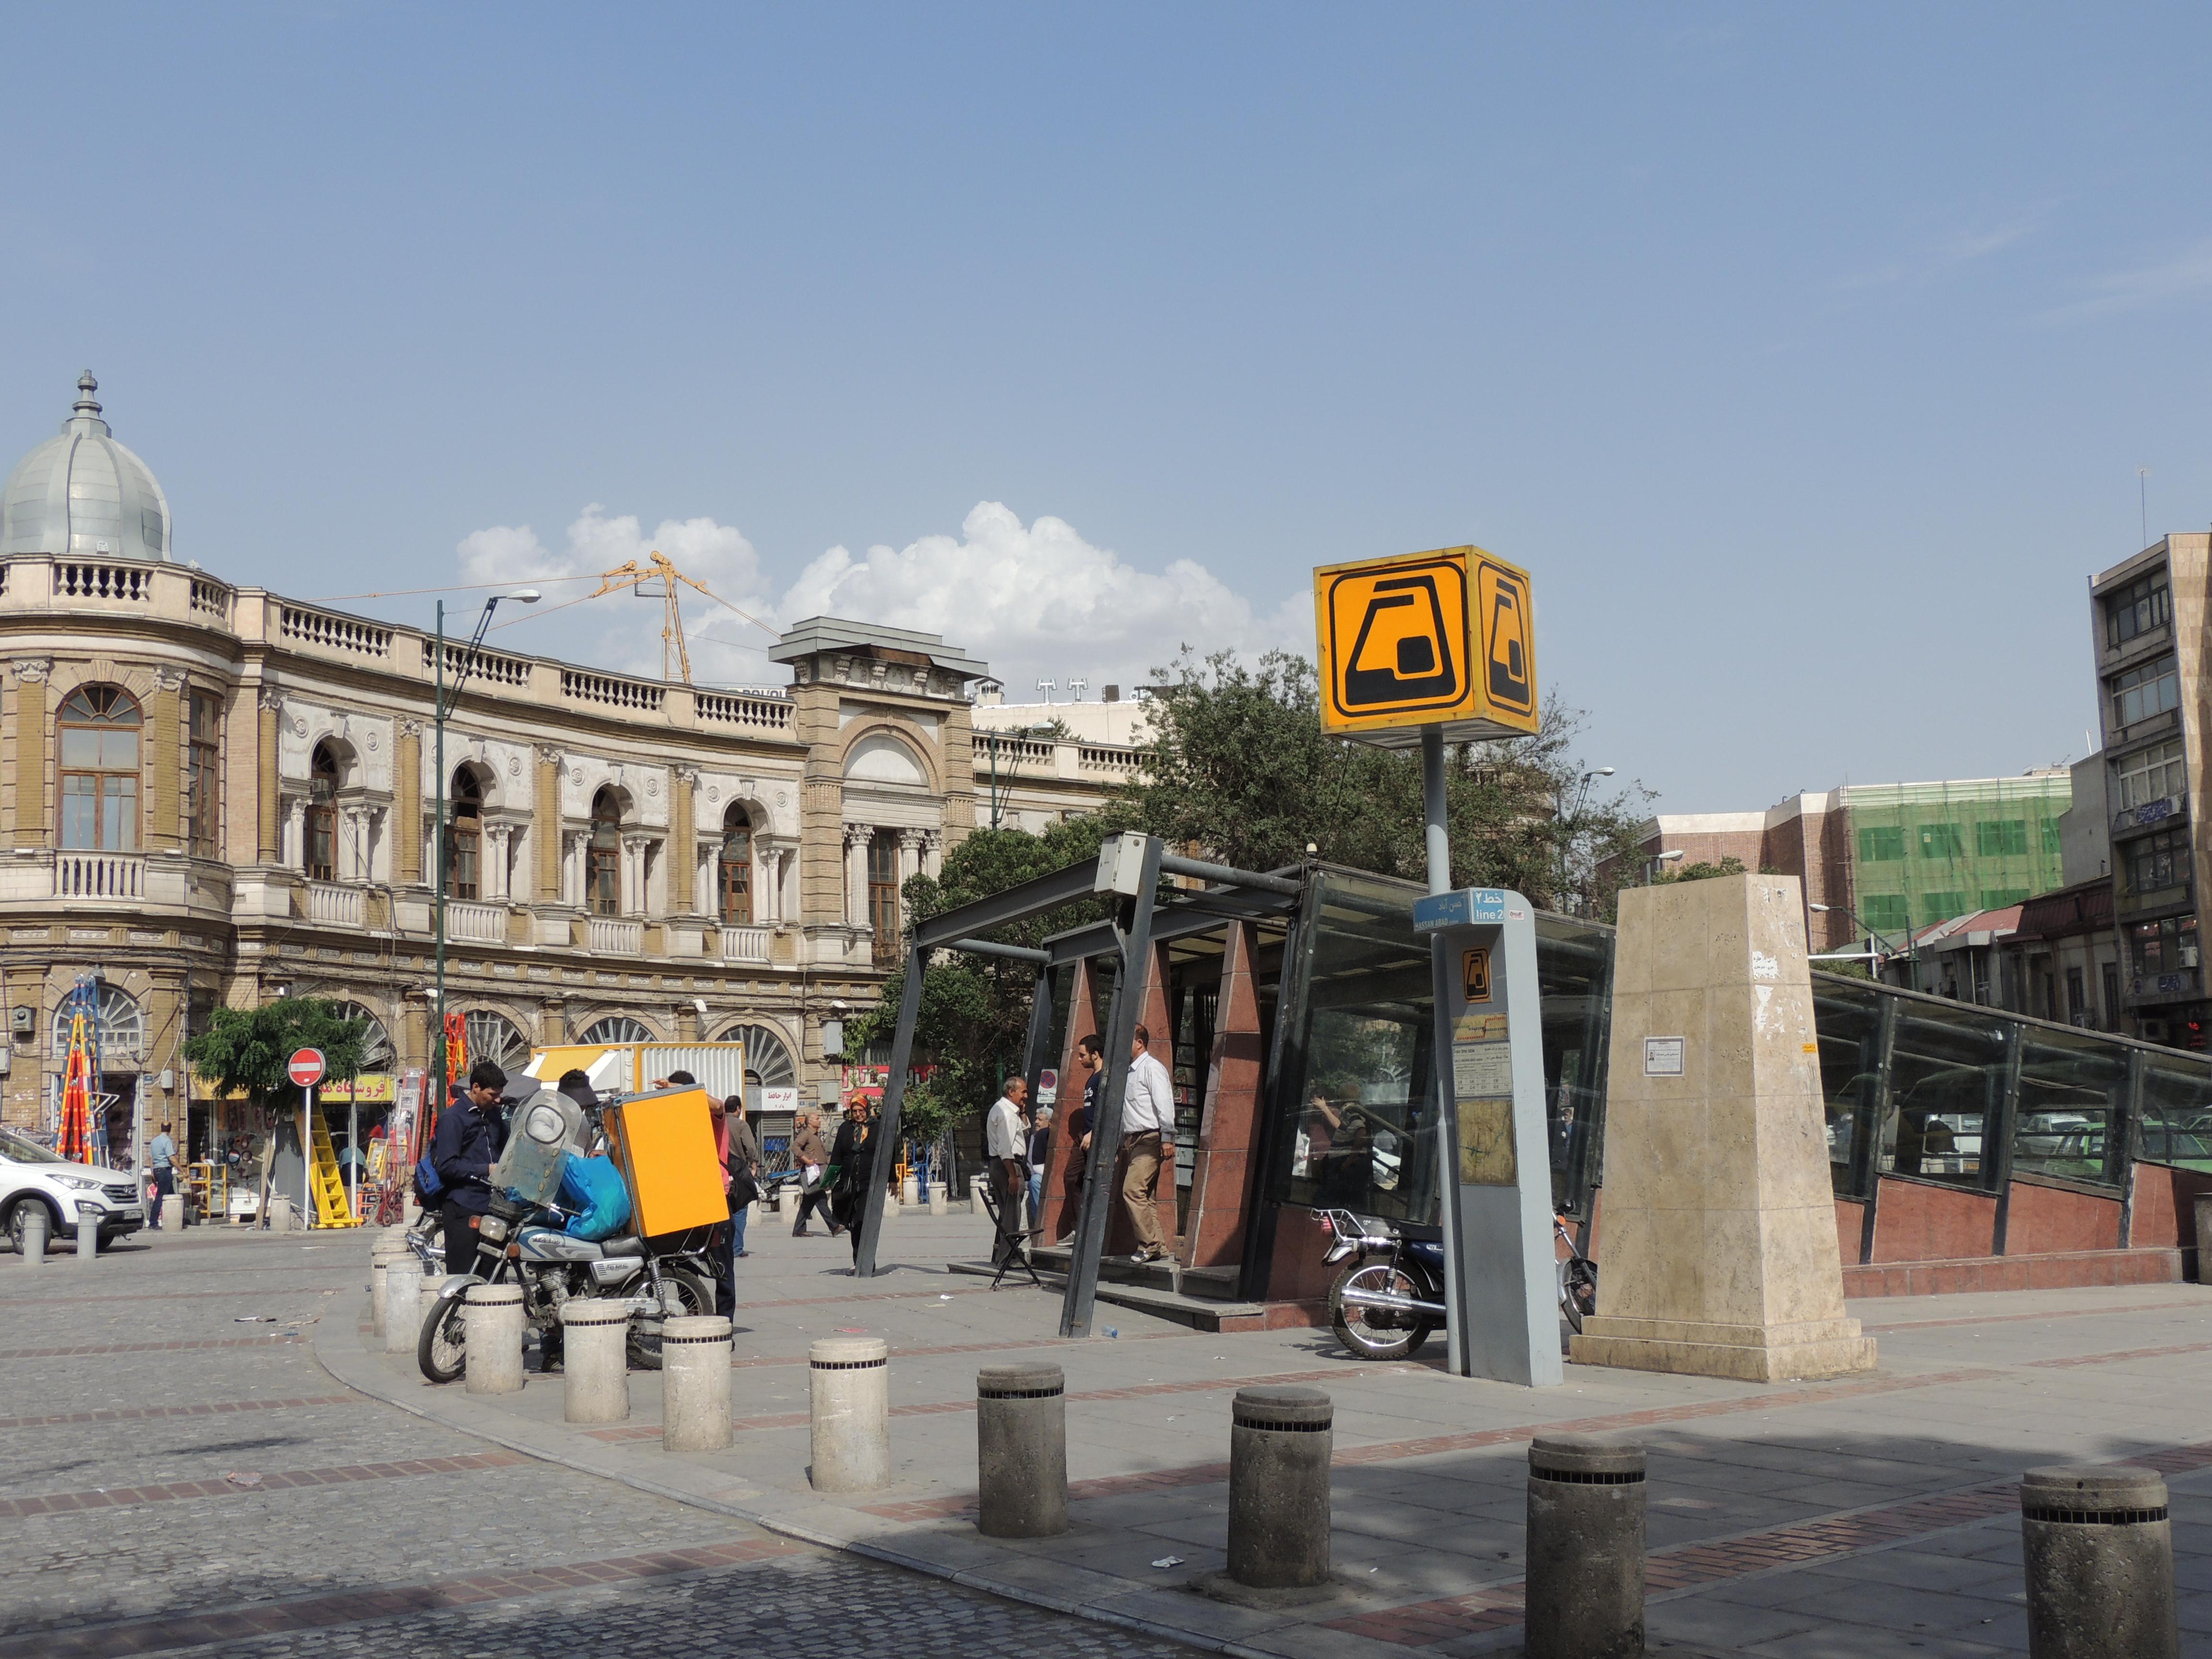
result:
M 115 442 L 93 394 L 77 376 L 77 403 L 58 438 L 15 462 L 0 489 L 0 557 L 13 553 L 104 553 L 117 560 L 168 557 L 168 495 L 146 462 Z

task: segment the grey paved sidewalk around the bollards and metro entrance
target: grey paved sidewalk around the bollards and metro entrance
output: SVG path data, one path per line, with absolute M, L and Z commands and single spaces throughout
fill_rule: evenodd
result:
M 361 1274 L 367 1241 L 354 1243 L 345 1263 Z M 1106 1305 L 1102 1336 L 1060 1340 L 1057 1292 L 991 1292 L 945 1270 L 989 1248 L 989 1225 L 967 1214 L 900 1217 L 883 1239 L 898 1265 L 860 1285 L 843 1239 L 794 1241 L 768 1221 L 748 1243 L 726 1453 L 659 1449 L 655 1374 L 630 1376 L 633 1418 L 613 1429 L 562 1425 L 557 1376 L 495 1400 L 429 1387 L 411 1356 L 367 1336 L 365 1298 L 358 1327 L 343 1312 L 319 1327 L 316 1356 L 365 1394 L 515 1451 L 1270 1659 L 1517 1650 L 1524 1447 L 1544 1429 L 1650 1449 L 1655 1650 L 1792 1659 L 2024 1652 L 2020 1471 L 2152 1462 L 2174 1498 L 2183 1650 L 2212 1652 L 2212 1294 L 2197 1285 L 1854 1303 L 1880 1338 L 1867 1378 L 1759 1387 L 1568 1365 L 1564 1387 L 1531 1391 L 1433 1363 L 1363 1365 L 1327 1332 L 1219 1336 Z M 891 1345 L 894 1484 L 818 1498 L 805 1352 L 856 1332 Z M 1066 1367 L 1073 1526 L 1057 1540 L 987 1540 L 971 1522 L 975 1369 L 1006 1358 Z M 1230 1396 L 1292 1380 L 1336 1400 L 1343 1593 L 1254 1613 L 1186 1586 L 1223 1566 Z

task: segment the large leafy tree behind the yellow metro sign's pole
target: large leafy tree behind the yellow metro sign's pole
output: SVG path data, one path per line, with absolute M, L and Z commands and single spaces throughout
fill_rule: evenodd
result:
M 1447 750 L 1453 885 L 1604 911 L 1590 902 L 1595 869 L 1615 843 L 1635 841 L 1646 794 L 1632 785 L 1577 810 L 1582 719 L 1553 697 L 1535 734 Z M 1285 650 L 1252 668 L 1232 653 L 1203 664 L 1186 653 L 1164 670 L 1141 772 L 1119 805 L 1152 834 L 1239 869 L 1314 856 L 1427 878 L 1418 752 L 1323 732 L 1314 666 Z

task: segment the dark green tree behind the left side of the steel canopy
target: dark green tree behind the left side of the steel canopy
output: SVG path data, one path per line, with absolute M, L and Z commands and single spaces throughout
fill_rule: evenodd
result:
M 1042 836 L 1026 830 L 975 830 L 945 854 L 936 876 L 907 880 L 905 914 L 911 949 L 914 925 L 942 916 L 978 898 L 1020 887 L 1024 880 L 1097 858 L 1099 843 L 1110 834 L 1110 816 L 1084 816 L 1057 823 Z M 1037 947 L 1068 927 L 1097 920 L 1097 902 L 1068 905 L 1029 922 L 1002 927 L 989 938 L 1000 945 Z M 905 960 L 885 984 L 874 1009 L 845 1029 L 847 1051 L 889 1044 L 898 1026 L 898 1000 L 905 991 Z M 1035 991 L 1035 969 L 998 956 L 936 951 L 922 971 L 922 1002 L 914 1022 L 916 1064 L 929 1064 L 927 1082 L 905 1097 L 902 1135 L 933 1141 L 975 1117 L 991 1104 L 1004 1077 L 1024 1064 L 1029 1042 L 1029 1006 Z

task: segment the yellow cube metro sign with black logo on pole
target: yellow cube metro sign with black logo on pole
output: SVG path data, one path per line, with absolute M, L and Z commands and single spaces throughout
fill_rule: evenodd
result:
M 1453 741 L 1535 730 L 1528 573 L 1480 546 L 1321 566 L 1314 633 L 1323 730 L 1383 743 L 1422 726 Z

